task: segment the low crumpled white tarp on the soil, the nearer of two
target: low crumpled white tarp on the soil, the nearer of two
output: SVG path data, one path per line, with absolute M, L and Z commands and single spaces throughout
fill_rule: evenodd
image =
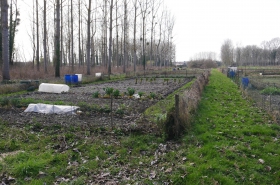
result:
M 29 104 L 24 112 L 37 112 L 43 114 L 75 114 L 79 107 L 69 105 Z

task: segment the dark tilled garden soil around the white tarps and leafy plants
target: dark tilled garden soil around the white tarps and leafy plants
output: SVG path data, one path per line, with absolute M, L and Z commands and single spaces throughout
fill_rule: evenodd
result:
M 190 79 L 180 79 L 180 83 L 177 79 L 169 80 L 169 83 L 164 82 L 163 79 L 156 79 L 156 81 L 150 82 L 143 79 L 142 83 L 138 80 L 135 84 L 135 79 L 129 79 L 124 81 L 115 81 L 101 84 L 89 84 L 82 85 L 80 87 L 71 87 L 70 91 L 62 94 L 43 93 L 43 92 L 28 92 L 20 95 L 19 98 L 33 98 L 42 101 L 63 101 L 69 105 L 78 105 L 79 102 L 84 102 L 90 105 L 98 105 L 100 107 L 110 107 L 110 98 L 93 98 L 93 93 L 99 91 L 104 95 L 103 88 L 113 87 L 118 89 L 121 94 L 127 92 L 127 88 L 134 88 L 135 93 L 140 91 L 144 92 L 144 96 L 141 99 L 135 99 L 128 97 L 127 95 L 120 98 L 113 99 L 113 115 L 111 118 L 110 113 L 100 113 L 93 111 L 82 111 L 76 115 L 61 115 L 61 114 L 39 114 L 39 113 L 25 113 L 25 108 L 1 108 L 0 118 L 8 121 L 13 125 L 26 125 L 26 124 L 40 124 L 42 126 L 49 125 L 75 125 L 75 126 L 98 126 L 107 127 L 112 124 L 124 131 L 131 129 L 149 130 L 151 125 L 143 119 L 142 113 L 146 108 L 155 104 L 160 99 L 165 98 L 167 95 L 178 89 L 182 85 L 189 82 Z M 155 99 L 151 99 L 148 95 L 153 92 L 156 94 Z M 123 114 L 117 114 L 117 110 L 122 108 Z

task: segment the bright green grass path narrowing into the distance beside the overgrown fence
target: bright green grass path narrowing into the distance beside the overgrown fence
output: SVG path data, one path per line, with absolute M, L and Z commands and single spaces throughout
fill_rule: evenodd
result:
M 278 184 L 279 131 L 268 115 L 242 98 L 236 84 L 214 70 L 174 184 Z

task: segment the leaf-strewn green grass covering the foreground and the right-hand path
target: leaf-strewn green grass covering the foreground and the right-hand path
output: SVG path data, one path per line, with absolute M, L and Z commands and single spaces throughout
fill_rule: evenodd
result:
M 174 95 L 168 98 L 172 102 Z M 148 113 L 162 113 L 159 110 Z M 180 141 L 165 143 L 154 134 L 127 134 L 91 125 L 17 127 L 0 120 L 0 130 L 0 153 L 7 154 L 0 161 L 0 174 L 15 178 L 16 184 L 54 184 L 61 177 L 69 180 L 61 184 L 90 184 L 102 174 L 110 174 L 104 179 L 116 178 L 120 184 L 280 181 L 279 125 L 217 71 L 210 76 L 191 130 Z M 61 149 L 61 138 L 67 148 Z M 162 144 L 169 149 L 159 150 Z M 150 178 L 152 172 L 155 178 Z M 124 176 L 129 178 L 119 179 Z

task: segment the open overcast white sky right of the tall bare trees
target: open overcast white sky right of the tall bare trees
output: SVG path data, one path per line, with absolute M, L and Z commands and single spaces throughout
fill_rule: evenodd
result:
M 175 16 L 177 61 L 216 52 L 224 40 L 258 45 L 280 37 L 280 0 L 165 0 Z

